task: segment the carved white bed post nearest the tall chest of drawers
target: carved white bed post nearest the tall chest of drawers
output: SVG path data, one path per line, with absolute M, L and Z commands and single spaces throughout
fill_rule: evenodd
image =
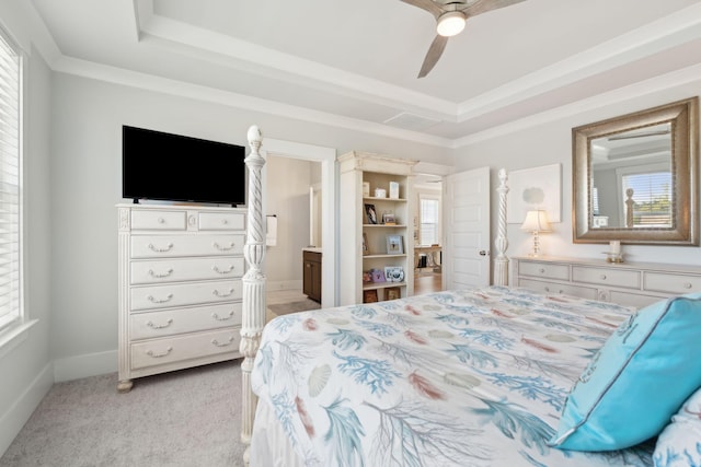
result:
M 265 165 L 265 160 L 258 152 L 263 136 L 258 127 L 252 126 L 249 128 L 248 138 L 251 147 L 251 153 L 245 157 L 245 165 L 249 168 L 249 217 L 246 241 L 243 248 L 248 270 L 242 279 L 243 316 L 239 346 L 239 351 L 244 358 L 241 363 L 241 442 L 246 446 L 243 453 L 245 465 L 249 465 L 249 450 L 257 401 L 255 394 L 251 390 L 251 371 L 253 370 L 253 359 L 261 345 L 261 332 L 265 325 L 265 275 L 261 270 L 265 257 L 261 171 Z

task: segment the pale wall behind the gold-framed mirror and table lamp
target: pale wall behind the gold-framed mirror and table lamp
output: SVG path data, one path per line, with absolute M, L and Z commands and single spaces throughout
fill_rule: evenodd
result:
M 651 108 L 701 93 L 701 67 L 679 74 L 648 81 L 609 95 L 579 102 L 556 112 L 536 115 L 501 131 L 492 130 L 471 138 L 469 144 L 456 152 L 459 171 L 489 165 L 492 187 L 498 186 L 497 170 L 507 171 L 562 164 L 562 222 L 553 224 L 553 232 L 542 234 L 544 255 L 604 259 L 602 245 L 572 242 L 572 128 L 610 117 Z M 537 124 L 537 125 L 536 125 Z M 489 162 L 487 162 L 489 161 Z M 492 199 L 492 232 L 498 219 L 497 198 Z M 532 236 L 519 230 L 520 223 L 508 224 L 508 256 L 527 255 Z M 494 249 L 494 247 L 493 247 Z M 623 245 L 631 261 L 699 265 L 701 249 L 682 246 Z

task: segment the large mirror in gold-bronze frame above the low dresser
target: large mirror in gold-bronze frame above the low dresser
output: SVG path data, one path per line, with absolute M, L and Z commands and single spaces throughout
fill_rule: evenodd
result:
M 572 129 L 574 243 L 699 245 L 698 106 Z

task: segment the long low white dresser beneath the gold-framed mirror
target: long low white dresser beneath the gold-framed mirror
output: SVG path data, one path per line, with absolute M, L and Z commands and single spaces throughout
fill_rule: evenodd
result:
M 514 285 L 564 293 L 637 308 L 659 300 L 701 292 L 701 268 L 654 262 L 609 264 L 559 257 L 516 257 Z

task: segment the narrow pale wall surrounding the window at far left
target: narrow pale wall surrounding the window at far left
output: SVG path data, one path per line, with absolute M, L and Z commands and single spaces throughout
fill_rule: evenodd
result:
M 38 319 L 25 339 L 0 349 L 0 455 L 54 382 L 49 352 L 51 324 L 51 211 L 49 132 L 50 70 L 23 34 L 26 17 L 19 2 L 0 2 L 0 19 L 27 54 L 24 106 L 24 306 Z

